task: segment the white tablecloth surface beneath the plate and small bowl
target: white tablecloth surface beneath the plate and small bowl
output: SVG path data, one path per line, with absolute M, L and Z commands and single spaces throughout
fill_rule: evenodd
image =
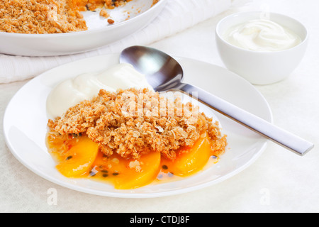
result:
M 282 82 L 257 86 L 267 99 L 274 123 L 315 143 L 299 157 L 269 143 L 261 157 L 240 174 L 196 192 L 156 199 L 116 199 L 48 182 L 21 165 L 4 142 L 0 128 L 0 211 L 2 212 L 318 212 L 319 211 L 319 1 L 256 0 L 198 23 L 151 46 L 172 55 L 222 67 L 216 51 L 216 23 L 234 11 L 269 10 L 303 22 L 310 43 L 301 65 Z M 0 116 L 11 97 L 28 81 L 0 84 Z M 50 203 L 51 189 L 57 204 Z

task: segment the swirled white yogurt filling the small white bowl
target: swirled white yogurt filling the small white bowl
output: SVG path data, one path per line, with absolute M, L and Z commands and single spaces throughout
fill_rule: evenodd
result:
M 223 34 L 223 38 L 239 48 L 253 51 L 288 50 L 301 43 L 298 35 L 267 19 L 233 26 Z

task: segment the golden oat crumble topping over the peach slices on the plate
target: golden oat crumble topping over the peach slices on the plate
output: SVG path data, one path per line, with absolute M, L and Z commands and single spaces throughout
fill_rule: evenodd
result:
M 82 101 L 64 116 L 49 120 L 48 126 L 61 135 L 86 133 L 105 155 L 115 152 L 125 158 L 155 150 L 174 159 L 177 149 L 193 146 L 206 133 L 219 153 L 227 143 L 218 122 L 199 113 L 198 106 L 149 89 L 102 89 L 91 101 Z

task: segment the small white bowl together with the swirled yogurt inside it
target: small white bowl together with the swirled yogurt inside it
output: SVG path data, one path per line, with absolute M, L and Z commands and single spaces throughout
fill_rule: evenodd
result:
M 216 26 L 216 45 L 228 70 L 257 85 L 280 82 L 298 67 L 308 31 L 279 13 L 247 11 L 226 16 Z

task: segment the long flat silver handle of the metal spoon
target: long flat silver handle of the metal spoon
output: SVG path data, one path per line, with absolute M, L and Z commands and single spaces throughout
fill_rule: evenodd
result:
M 181 83 L 177 89 L 180 89 L 183 92 L 189 92 L 189 94 L 196 92 L 198 101 L 201 101 L 201 103 L 206 104 L 220 114 L 232 118 L 234 121 L 237 121 L 237 123 L 241 123 L 252 131 L 272 140 L 274 143 L 293 151 L 293 153 L 303 156 L 314 147 L 313 143 L 310 143 L 303 138 L 299 138 L 288 131 L 284 131 L 277 126 L 274 126 L 272 123 L 269 123 L 254 114 L 250 114 L 248 111 L 240 109 L 239 107 L 230 104 L 228 101 L 220 99 L 201 88 L 191 84 Z

